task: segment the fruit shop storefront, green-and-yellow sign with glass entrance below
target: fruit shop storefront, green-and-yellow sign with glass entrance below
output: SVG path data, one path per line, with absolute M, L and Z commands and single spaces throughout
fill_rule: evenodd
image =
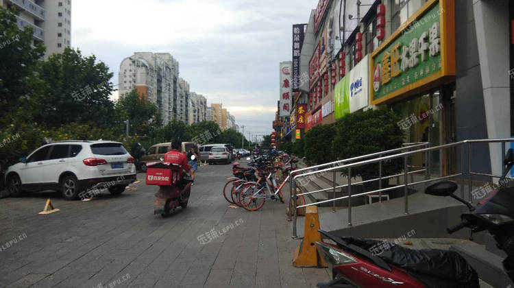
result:
M 372 105 L 388 105 L 401 116 L 405 142 L 454 141 L 454 3 L 427 1 L 404 25 L 371 53 Z M 454 152 L 430 154 L 431 173 L 447 173 Z M 412 165 L 424 165 L 424 156 Z M 455 167 L 450 165 L 450 167 Z

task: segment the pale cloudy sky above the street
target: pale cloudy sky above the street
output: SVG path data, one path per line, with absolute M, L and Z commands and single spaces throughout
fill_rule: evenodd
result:
M 134 52 L 168 52 L 190 90 L 222 103 L 245 136 L 271 133 L 292 25 L 318 0 L 74 0 L 71 46 L 114 73 Z M 117 97 L 117 95 L 115 95 Z

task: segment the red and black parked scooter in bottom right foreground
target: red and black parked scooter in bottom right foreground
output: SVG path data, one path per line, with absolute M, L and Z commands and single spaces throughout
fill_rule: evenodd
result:
M 469 213 L 461 215 L 461 223 L 447 228 L 448 233 L 462 228 L 470 228 L 472 233 L 488 230 L 498 248 L 506 252 L 503 267 L 509 278 L 514 280 L 514 188 L 505 178 L 514 165 L 513 149 L 506 153 L 503 165 L 506 169 L 500 178 L 500 186 L 477 206 L 454 195 L 457 184 L 451 181 L 431 184 L 425 193 L 450 196 L 463 202 Z M 339 237 L 323 230 L 319 232 L 335 244 L 316 242 L 317 251 L 332 270 L 332 280 L 318 283 L 317 287 L 480 287 L 473 267 L 456 252 L 413 250 L 389 242 Z M 387 250 L 380 254 L 371 253 L 376 245 L 385 246 Z

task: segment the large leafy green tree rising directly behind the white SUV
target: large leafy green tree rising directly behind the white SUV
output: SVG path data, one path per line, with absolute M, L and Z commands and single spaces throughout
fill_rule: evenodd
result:
M 45 85 L 32 103 L 37 105 L 36 119 L 48 128 L 71 122 L 106 127 L 117 120 L 109 99 L 112 73 L 95 56 L 83 57 L 78 49 L 66 47 L 40 62 L 38 73 Z

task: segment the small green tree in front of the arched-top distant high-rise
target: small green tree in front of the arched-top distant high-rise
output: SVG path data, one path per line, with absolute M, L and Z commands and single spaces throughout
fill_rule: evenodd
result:
M 119 128 L 125 127 L 122 121 L 129 120 L 131 135 L 149 134 L 151 123 L 160 121 L 157 106 L 145 97 L 138 95 L 136 88 L 132 89 L 130 93 L 120 95 L 114 110 Z

